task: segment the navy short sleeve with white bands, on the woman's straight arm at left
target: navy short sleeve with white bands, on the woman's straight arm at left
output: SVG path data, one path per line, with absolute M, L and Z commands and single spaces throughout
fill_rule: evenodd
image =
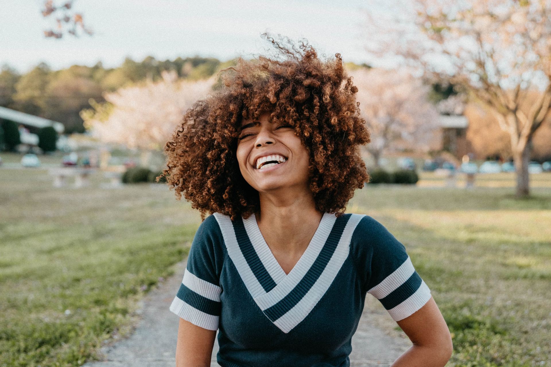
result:
M 208 330 L 218 330 L 220 318 L 220 248 L 222 233 L 213 215 L 199 226 L 190 253 L 180 289 L 170 311 L 192 324 Z

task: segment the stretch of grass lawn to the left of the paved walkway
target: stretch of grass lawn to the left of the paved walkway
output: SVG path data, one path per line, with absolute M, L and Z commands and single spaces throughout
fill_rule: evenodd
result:
M 137 301 L 187 254 L 200 218 L 163 184 L 52 188 L 0 168 L 0 366 L 75 366 L 128 332 Z

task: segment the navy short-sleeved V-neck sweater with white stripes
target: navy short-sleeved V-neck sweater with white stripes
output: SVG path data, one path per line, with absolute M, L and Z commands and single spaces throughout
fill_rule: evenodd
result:
M 255 215 L 199 226 L 170 310 L 218 330 L 222 367 L 348 367 L 370 293 L 399 321 L 431 297 L 404 245 L 374 218 L 324 213 L 286 274 Z

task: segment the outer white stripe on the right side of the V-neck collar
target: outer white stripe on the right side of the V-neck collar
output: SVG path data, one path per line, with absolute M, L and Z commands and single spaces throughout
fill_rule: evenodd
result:
M 361 218 L 364 216 L 365 215 L 363 214 L 352 214 L 350 216 L 331 260 L 329 260 L 325 270 L 323 270 L 320 277 L 314 283 L 314 286 L 310 288 L 299 303 L 291 308 L 285 315 L 274 321 L 274 325 L 276 325 L 284 333 L 288 333 L 302 320 L 304 320 L 327 292 L 327 289 L 331 286 L 331 283 L 337 276 L 337 273 L 341 270 L 344 261 L 348 258 L 352 234 L 354 233 L 356 226 L 358 226 Z

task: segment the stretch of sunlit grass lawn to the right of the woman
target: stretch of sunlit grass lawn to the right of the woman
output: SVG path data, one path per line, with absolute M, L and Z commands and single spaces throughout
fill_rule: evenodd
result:
M 450 366 L 551 363 L 551 191 L 368 186 L 355 212 L 408 250 L 453 335 Z

